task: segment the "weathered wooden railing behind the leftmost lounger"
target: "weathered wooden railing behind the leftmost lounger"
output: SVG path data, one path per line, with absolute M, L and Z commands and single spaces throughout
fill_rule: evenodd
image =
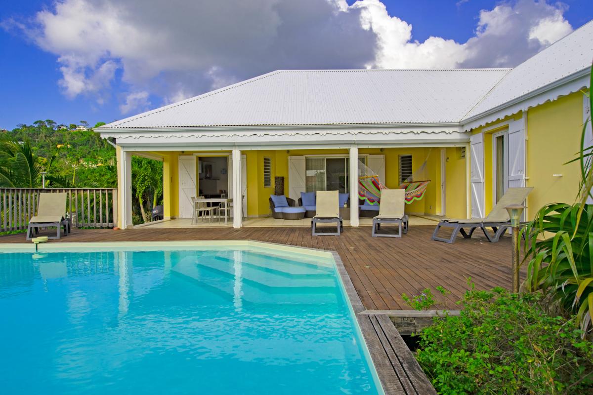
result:
M 116 188 L 0 188 L 0 232 L 27 229 L 40 193 L 66 192 L 66 216 L 75 227 L 117 226 Z

